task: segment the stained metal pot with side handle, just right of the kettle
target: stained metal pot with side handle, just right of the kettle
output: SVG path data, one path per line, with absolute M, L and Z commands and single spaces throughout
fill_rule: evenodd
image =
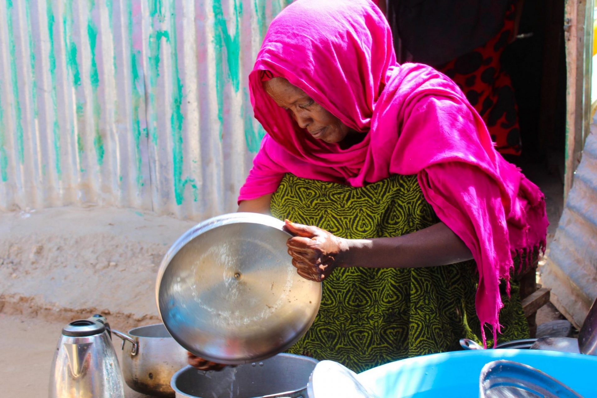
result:
M 122 375 L 128 386 L 143 394 L 174 397 L 170 380 L 187 365 L 187 353 L 164 324 L 112 333 L 122 339 Z

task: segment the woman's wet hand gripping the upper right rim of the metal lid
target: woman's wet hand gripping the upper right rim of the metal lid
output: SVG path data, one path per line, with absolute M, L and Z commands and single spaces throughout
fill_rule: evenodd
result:
M 286 244 L 300 276 L 321 282 L 336 267 L 346 266 L 349 247 L 346 239 L 318 227 L 294 224 L 288 220 L 285 223 L 288 232 L 296 235 Z

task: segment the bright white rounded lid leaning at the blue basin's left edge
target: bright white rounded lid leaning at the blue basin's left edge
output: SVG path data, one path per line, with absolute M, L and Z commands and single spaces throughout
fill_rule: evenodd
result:
M 313 369 L 307 384 L 309 398 L 377 398 L 358 380 L 355 372 L 333 360 L 322 360 Z

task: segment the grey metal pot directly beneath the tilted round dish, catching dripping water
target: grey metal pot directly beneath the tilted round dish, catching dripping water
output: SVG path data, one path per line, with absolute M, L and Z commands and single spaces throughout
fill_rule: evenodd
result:
M 174 374 L 171 387 L 177 398 L 307 398 L 307 383 L 317 363 L 310 357 L 284 353 L 219 372 L 186 366 Z

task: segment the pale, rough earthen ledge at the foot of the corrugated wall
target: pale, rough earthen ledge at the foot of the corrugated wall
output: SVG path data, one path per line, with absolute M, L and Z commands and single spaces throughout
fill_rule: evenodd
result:
M 0 312 L 155 323 L 159 263 L 195 224 L 103 207 L 0 212 Z

